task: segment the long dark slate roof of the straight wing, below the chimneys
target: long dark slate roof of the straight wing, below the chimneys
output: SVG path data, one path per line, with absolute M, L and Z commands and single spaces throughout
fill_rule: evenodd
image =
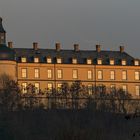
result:
M 109 60 L 112 58 L 115 60 L 116 65 L 121 65 L 121 60 L 125 59 L 127 65 L 133 65 L 134 58 L 128 55 L 126 52 L 121 53 L 120 51 L 101 51 L 96 50 L 60 50 L 55 49 L 29 49 L 29 48 L 14 48 L 17 56 L 17 61 L 21 61 L 21 57 L 26 57 L 27 61 L 32 63 L 34 57 L 40 59 L 40 63 L 46 63 L 46 57 L 51 57 L 52 62 L 56 63 L 56 58 L 61 57 L 63 64 L 71 64 L 72 58 L 77 58 L 79 64 L 86 64 L 86 59 L 90 58 L 93 64 L 96 64 L 97 58 L 103 60 L 104 65 L 109 64 Z

